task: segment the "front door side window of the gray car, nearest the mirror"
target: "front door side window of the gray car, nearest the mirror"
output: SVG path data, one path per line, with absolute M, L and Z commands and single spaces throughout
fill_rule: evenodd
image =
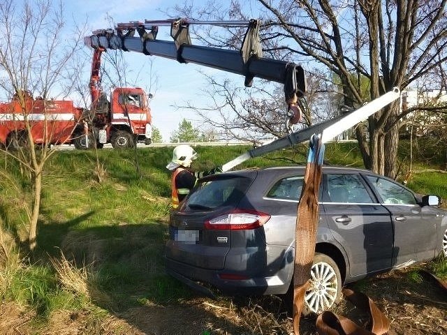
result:
M 413 193 L 399 184 L 375 176 L 367 176 L 374 189 L 381 196 L 384 204 L 416 204 Z

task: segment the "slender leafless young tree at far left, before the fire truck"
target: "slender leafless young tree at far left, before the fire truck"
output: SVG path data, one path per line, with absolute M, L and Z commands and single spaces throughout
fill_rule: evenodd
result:
M 18 106 L 13 120 L 17 121 L 16 137 L 10 142 L 20 144 L 17 150 L 2 149 L 10 158 L 20 162 L 22 171 L 31 178 L 31 203 L 26 204 L 28 214 L 28 242 L 31 251 L 36 248 L 37 223 L 41 206 L 42 175 L 45 163 L 54 154 L 47 143 L 52 142 L 52 111 L 54 101 L 50 98 L 57 90 L 64 89 L 64 78 L 71 77 L 66 71 L 68 59 L 81 46 L 82 34 L 69 36 L 65 29 L 63 6 L 50 0 L 6 0 L 0 3 L 0 89 Z M 68 40 L 68 42 L 67 42 Z M 69 86 L 69 85 L 68 85 Z M 34 96 L 39 96 L 35 99 Z M 43 120 L 36 122 L 31 110 L 39 103 L 38 114 Z M 3 107 L 8 108 L 9 105 Z M 38 118 L 39 119 L 39 118 Z M 4 120 L 3 120 L 4 121 Z M 43 131 L 36 145 L 33 135 L 36 127 Z

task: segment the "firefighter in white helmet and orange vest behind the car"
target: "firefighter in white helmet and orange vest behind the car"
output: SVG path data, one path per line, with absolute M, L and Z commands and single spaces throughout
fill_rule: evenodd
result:
M 171 205 L 173 209 L 189 194 L 189 191 L 196 184 L 197 179 L 210 174 L 222 172 L 221 167 L 209 171 L 193 172 L 191 163 L 197 158 L 197 153 L 187 144 L 180 144 L 173 150 L 173 159 L 166 168 L 173 172 L 171 180 Z

